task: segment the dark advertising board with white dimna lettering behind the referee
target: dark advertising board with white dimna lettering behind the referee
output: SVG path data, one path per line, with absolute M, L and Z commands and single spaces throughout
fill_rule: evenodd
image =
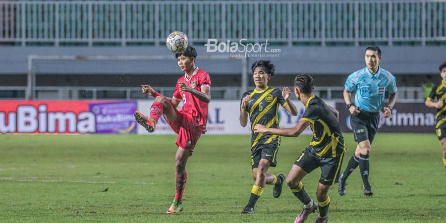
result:
M 336 103 L 339 111 L 339 126 L 342 132 L 351 132 L 350 112 L 344 103 Z M 429 132 L 435 134 L 436 109 L 427 108 L 424 103 L 396 103 L 390 118 L 381 119 L 378 132 Z

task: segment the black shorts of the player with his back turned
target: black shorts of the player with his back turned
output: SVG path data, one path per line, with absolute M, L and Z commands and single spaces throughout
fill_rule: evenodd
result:
M 343 157 L 344 152 L 339 153 L 336 157 L 320 157 L 316 155 L 313 149 L 306 148 L 294 162 L 294 165 L 301 167 L 307 173 L 321 167 L 319 182 L 324 185 L 333 185 L 337 183 Z

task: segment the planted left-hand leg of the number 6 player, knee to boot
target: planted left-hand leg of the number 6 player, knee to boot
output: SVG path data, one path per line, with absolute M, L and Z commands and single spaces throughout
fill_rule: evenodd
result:
M 257 170 L 256 173 L 257 175 L 254 177 L 255 182 L 251 190 L 251 197 L 249 198 L 248 204 L 246 205 L 245 209 L 241 212 L 241 214 L 254 214 L 254 207 L 256 205 L 256 202 L 259 199 L 259 197 L 262 196 L 263 190 L 265 188 L 267 172 L 270 165 L 271 161 L 267 159 L 261 159 L 259 162 L 259 167 L 255 168 Z M 253 174 L 254 174 L 254 169 L 253 169 Z

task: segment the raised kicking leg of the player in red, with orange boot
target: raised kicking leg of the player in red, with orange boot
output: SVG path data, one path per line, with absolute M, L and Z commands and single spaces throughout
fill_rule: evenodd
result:
M 176 120 L 176 112 L 174 110 L 170 101 L 164 96 L 157 96 L 155 102 L 150 108 L 150 115 L 146 117 L 139 111 L 135 111 L 135 119 L 137 122 L 147 129 L 148 132 L 155 131 L 156 124 L 160 119 L 161 115 L 167 118 L 167 120 L 172 123 Z

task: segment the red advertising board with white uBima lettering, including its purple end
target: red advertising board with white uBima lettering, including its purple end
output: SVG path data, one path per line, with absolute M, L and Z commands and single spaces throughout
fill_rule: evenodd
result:
M 136 133 L 136 101 L 0 101 L 0 133 Z

